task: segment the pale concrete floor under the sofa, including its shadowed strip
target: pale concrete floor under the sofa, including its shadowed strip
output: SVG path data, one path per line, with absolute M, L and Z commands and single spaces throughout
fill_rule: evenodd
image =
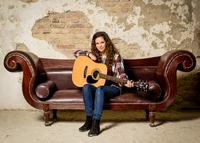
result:
M 104 111 L 101 133 L 79 132 L 83 111 L 58 111 L 58 120 L 44 126 L 40 110 L 0 110 L 1 143 L 199 143 L 200 111 L 156 112 L 150 127 L 144 111 Z

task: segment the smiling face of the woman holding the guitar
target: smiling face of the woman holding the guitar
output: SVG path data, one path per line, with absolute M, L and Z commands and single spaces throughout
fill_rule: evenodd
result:
M 106 53 L 106 41 L 103 37 L 98 37 L 95 39 L 95 45 L 96 48 L 101 52 L 102 54 Z

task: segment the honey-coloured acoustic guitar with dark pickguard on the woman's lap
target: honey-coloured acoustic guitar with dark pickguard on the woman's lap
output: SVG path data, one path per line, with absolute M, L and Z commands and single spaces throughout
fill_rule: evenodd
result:
M 106 80 L 126 84 L 127 80 L 107 75 L 107 66 L 95 63 L 87 56 L 78 56 L 72 70 L 72 81 L 77 87 L 92 84 L 96 87 L 104 85 Z M 149 84 L 141 80 L 134 81 L 137 90 L 147 92 Z

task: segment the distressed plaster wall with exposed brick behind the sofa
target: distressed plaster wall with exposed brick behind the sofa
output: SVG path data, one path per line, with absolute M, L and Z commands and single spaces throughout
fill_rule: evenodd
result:
M 124 58 L 185 49 L 197 57 L 198 69 L 199 8 L 199 0 L 1 0 L 0 108 L 31 108 L 22 96 L 22 74 L 4 69 L 9 51 L 72 59 L 75 50 L 90 49 L 91 37 L 99 30 L 110 35 Z M 178 72 L 178 93 L 171 107 L 200 103 L 195 70 Z

